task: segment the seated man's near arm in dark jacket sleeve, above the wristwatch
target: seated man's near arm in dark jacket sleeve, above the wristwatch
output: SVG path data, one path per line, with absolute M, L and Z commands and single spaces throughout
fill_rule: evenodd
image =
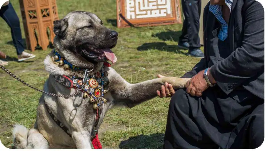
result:
M 248 2 L 244 7 L 242 46 L 210 68 L 211 75 L 226 94 L 264 68 L 264 9 L 257 1 Z

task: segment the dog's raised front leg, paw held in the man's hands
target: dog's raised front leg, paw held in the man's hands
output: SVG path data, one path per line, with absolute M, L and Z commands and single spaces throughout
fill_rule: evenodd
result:
M 126 103 L 127 106 L 133 107 L 141 102 L 157 96 L 156 91 L 161 90 L 161 85 L 168 82 L 175 90 L 185 87 L 190 78 L 162 77 L 153 80 L 129 84 L 115 70 L 109 70 L 109 90 L 116 103 Z

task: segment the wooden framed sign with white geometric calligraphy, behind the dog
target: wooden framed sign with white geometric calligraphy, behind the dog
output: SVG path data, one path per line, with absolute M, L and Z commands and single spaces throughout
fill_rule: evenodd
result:
M 180 0 L 117 0 L 117 27 L 181 24 Z

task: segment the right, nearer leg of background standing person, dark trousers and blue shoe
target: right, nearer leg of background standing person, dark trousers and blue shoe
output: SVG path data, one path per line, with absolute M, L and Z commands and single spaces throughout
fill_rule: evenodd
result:
M 184 0 L 184 16 L 187 18 L 187 34 L 189 43 L 188 54 L 195 57 L 204 57 L 200 51 L 199 17 L 201 0 Z

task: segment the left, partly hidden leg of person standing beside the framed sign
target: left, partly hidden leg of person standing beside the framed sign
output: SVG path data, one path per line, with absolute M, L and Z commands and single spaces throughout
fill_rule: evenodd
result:
M 181 0 L 181 7 L 183 9 L 183 14 L 185 16 L 185 0 Z M 187 15 L 188 16 L 188 15 Z M 187 17 L 185 17 L 183 21 L 183 29 L 181 30 L 181 35 L 179 37 L 178 46 L 181 49 L 189 49 L 189 43 L 188 43 L 188 33 L 187 33 L 187 27 L 188 27 L 188 20 Z

